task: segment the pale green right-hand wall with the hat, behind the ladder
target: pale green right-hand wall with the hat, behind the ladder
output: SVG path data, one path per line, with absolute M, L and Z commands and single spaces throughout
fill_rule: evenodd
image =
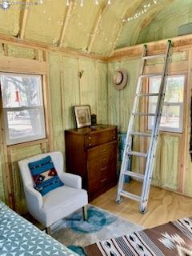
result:
M 175 52 L 172 57 L 172 62 L 181 62 L 187 59 L 185 51 Z M 134 93 L 137 85 L 138 69 L 140 59 L 127 58 L 122 61 L 111 62 L 108 65 L 108 113 L 109 121 L 118 125 L 121 132 L 126 132 L 130 113 L 133 107 Z M 148 65 L 162 63 L 148 62 Z M 113 83 L 114 71 L 118 68 L 124 68 L 129 75 L 128 85 L 123 90 L 115 90 Z M 140 123 L 136 125 L 140 126 Z M 185 129 L 185 127 L 184 127 Z M 189 143 L 189 142 L 187 142 Z M 175 134 L 161 133 L 158 141 L 158 150 L 154 162 L 154 174 L 152 184 L 161 186 L 170 190 L 178 190 L 178 172 L 179 172 L 179 157 L 182 152 L 179 152 L 180 137 Z M 141 146 L 141 145 L 140 145 Z M 139 148 L 139 142 L 134 142 L 134 147 Z M 190 154 L 187 156 L 188 169 L 186 171 L 186 182 L 184 194 L 192 196 L 192 165 L 190 162 Z M 134 158 L 133 170 L 142 172 L 141 162 Z

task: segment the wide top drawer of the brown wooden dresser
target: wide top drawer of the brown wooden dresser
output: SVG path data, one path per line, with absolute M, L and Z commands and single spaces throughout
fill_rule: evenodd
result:
M 116 141 L 117 138 L 117 130 L 106 130 L 101 133 L 95 134 L 87 134 L 85 136 L 85 147 L 91 148 L 93 146 L 102 145 L 106 142 Z

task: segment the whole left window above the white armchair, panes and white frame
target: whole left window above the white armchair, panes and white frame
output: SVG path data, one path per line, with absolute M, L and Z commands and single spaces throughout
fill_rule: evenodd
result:
M 42 77 L 0 73 L 6 144 L 46 138 Z

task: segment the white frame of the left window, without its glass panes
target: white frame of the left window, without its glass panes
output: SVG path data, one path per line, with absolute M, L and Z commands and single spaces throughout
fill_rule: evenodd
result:
M 2 98 L 2 85 L 1 85 L 1 76 L 2 75 L 13 75 L 15 77 L 39 77 L 41 84 L 40 84 L 40 90 L 39 90 L 39 98 L 41 99 L 42 106 L 21 106 L 21 107 L 10 107 L 10 108 L 4 108 L 3 107 L 3 98 Z M 26 73 L 14 73 L 14 72 L 0 72 L 0 94 L 2 98 L 2 114 L 3 114 L 3 121 L 4 121 L 4 129 L 5 129 L 5 135 L 6 135 L 6 146 L 15 146 L 18 144 L 23 144 L 27 142 L 36 142 L 39 140 L 46 139 L 47 132 L 46 132 L 46 111 L 45 111 L 45 102 L 44 102 L 44 94 L 43 94 L 43 75 L 42 74 L 26 74 Z M 36 136 L 27 136 L 23 138 L 15 138 L 10 139 L 9 134 L 9 125 L 8 125 L 8 114 L 7 112 L 14 112 L 14 111 L 22 111 L 22 110 L 39 110 L 39 113 L 41 114 L 41 120 L 40 124 L 42 126 L 42 134 L 36 135 Z

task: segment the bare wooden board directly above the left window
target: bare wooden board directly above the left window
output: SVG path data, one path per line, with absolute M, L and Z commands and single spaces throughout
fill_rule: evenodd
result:
M 26 58 L 0 56 L 1 72 L 46 74 L 46 62 Z

